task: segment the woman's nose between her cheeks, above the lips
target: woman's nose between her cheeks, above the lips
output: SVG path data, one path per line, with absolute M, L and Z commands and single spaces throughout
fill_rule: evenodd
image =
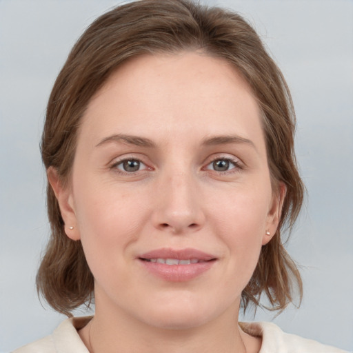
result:
M 154 195 L 152 223 L 171 234 L 196 232 L 205 223 L 202 195 L 195 178 L 188 173 L 159 180 Z

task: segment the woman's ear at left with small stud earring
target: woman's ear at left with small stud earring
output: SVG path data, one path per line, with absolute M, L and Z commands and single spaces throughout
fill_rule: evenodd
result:
M 65 223 L 65 234 L 70 239 L 77 241 L 80 239 L 80 234 L 77 227 L 77 219 L 74 212 L 74 199 L 70 185 L 63 185 L 57 170 L 53 167 L 48 168 L 47 176 L 59 203 L 61 216 Z

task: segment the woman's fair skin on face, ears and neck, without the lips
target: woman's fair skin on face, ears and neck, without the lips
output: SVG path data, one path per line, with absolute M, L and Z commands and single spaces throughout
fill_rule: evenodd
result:
M 90 350 L 259 352 L 236 318 L 285 187 L 272 192 L 261 112 L 229 63 L 183 52 L 123 64 L 88 105 L 69 185 L 48 177 L 94 275 L 96 314 L 79 332 Z M 216 261 L 170 282 L 137 260 L 159 248 Z

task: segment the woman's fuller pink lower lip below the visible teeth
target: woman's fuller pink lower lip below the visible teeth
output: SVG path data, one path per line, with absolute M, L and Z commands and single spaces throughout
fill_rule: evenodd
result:
M 167 265 L 165 263 L 157 263 L 144 261 L 139 259 L 142 265 L 152 274 L 170 282 L 190 281 L 204 272 L 210 270 L 215 260 L 190 263 L 189 265 Z

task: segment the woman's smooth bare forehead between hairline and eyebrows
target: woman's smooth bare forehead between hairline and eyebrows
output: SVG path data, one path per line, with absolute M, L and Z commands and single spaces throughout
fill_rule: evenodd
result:
M 112 133 L 262 138 L 248 83 L 228 61 L 200 52 L 143 55 L 123 63 L 91 99 L 81 128 L 92 139 Z

